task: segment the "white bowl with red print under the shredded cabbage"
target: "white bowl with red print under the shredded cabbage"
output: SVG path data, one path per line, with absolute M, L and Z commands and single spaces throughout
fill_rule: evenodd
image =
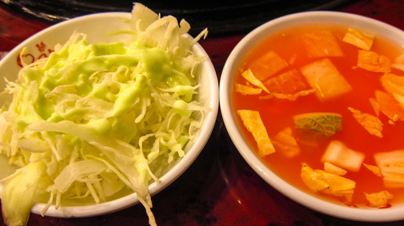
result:
M 64 44 L 76 29 L 88 35 L 87 40 L 89 43 L 122 40 L 125 38 L 124 34 L 117 36 L 108 36 L 103 34 L 128 29 L 127 25 L 123 23 L 120 18 L 129 19 L 130 17 L 130 13 L 98 13 L 74 18 L 44 29 L 19 44 L 0 61 L 0 74 L 2 77 L 6 76 L 10 81 L 15 80 L 17 78 L 16 75 L 21 68 L 18 66 L 17 57 L 23 47 L 27 47 L 28 53 L 30 53 L 33 57 L 38 58 L 42 54 L 42 52 L 39 51 L 40 49 L 38 46 L 40 47 L 45 45 L 46 48 L 43 49 L 44 53 L 48 53 L 48 48 L 52 49 L 57 43 Z M 198 88 L 199 101 L 203 102 L 205 106 L 210 107 L 212 111 L 207 114 L 204 125 L 200 128 L 198 138 L 189 148 L 187 154 L 170 171 L 159 178 L 161 181 L 160 183 L 154 182 L 149 185 L 148 190 L 152 196 L 175 181 L 192 164 L 207 143 L 216 123 L 219 109 L 219 85 L 217 74 L 212 61 L 203 47 L 196 43 L 193 47 L 193 51 L 197 55 L 206 56 L 206 60 L 201 67 L 201 74 L 204 76 L 200 76 L 199 82 L 201 86 Z M 3 90 L 4 87 L 5 82 L 3 79 L 1 79 L 0 89 Z M 4 158 L 0 158 L 0 165 L 4 167 Z M 2 167 L 0 167 L 0 169 Z M 15 169 L 10 168 L 8 169 L 9 172 L 0 172 L 0 178 L 5 177 L 5 175 L 2 174 L 10 174 L 10 172 L 13 170 Z M 0 190 L 2 187 L 3 185 L 0 184 Z M 59 209 L 51 207 L 48 209 L 45 215 L 56 217 L 95 216 L 115 212 L 132 206 L 138 202 L 139 201 L 136 194 L 133 193 L 113 201 L 94 205 L 62 206 Z M 39 214 L 44 206 L 45 204 L 43 203 L 35 204 L 32 208 L 32 212 Z

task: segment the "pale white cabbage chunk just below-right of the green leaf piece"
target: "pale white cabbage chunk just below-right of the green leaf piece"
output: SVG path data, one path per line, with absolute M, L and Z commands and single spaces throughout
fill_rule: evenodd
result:
M 358 172 L 365 159 L 365 154 L 348 148 L 339 140 L 331 140 L 321 157 L 321 162 L 329 162 L 342 169 Z

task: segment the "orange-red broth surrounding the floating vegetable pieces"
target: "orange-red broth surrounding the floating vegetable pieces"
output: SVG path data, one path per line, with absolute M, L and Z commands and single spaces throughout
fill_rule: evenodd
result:
M 365 193 L 371 194 L 386 190 L 392 194 L 393 198 L 388 201 L 387 205 L 377 207 L 388 207 L 389 205 L 404 200 L 403 187 L 385 187 L 383 176 L 377 176 L 374 172 L 365 167 L 364 164 L 377 168 L 378 165 L 374 158 L 376 153 L 404 149 L 402 139 L 404 122 L 402 119 L 397 119 L 399 113 L 396 114 L 394 118 L 389 118 L 383 114 L 378 108 L 378 106 L 383 103 L 375 104 L 376 91 L 381 91 L 383 94 L 388 93 L 381 83 L 381 77 L 386 72 L 383 71 L 383 69 L 376 72 L 358 66 L 359 52 L 363 51 L 363 49 L 343 40 L 348 30 L 349 28 L 347 27 L 337 25 L 310 24 L 278 32 L 258 43 L 251 49 L 240 65 L 235 83 L 251 89 L 264 90 L 260 94 L 246 94 L 235 91 L 233 95 L 234 110 L 258 111 L 266 127 L 268 137 L 272 141 L 274 141 L 277 134 L 284 128 L 291 128 L 292 136 L 295 138 L 298 148 L 300 149 L 298 155 L 285 157 L 275 146 L 275 153 L 260 156 L 262 161 L 265 162 L 273 172 L 288 183 L 300 190 L 313 193 L 322 199 L 354 206 L 369 205 L 369 201 L 365 198 Z M 335 39 L 334 44 L 337 43 L 340 51 L 334 54 L 332 51 L 327 50 L 325 51 L 326 54 L 330 55 L 310 55 L 308 51 L 311 51 L 311 47 L 306 48 L 308 46 L 308 42 L 305 39 L 306 35 L 321 34 L 323 32 L 326 32 L 327 35 L 332 35 L 332 38 Z M 362 31 L 355 30 L 355 32 Z M 361 34 L 368 35 L 366 33 Z M 327 37 L 327 35 L 324 37 Z M 402 70 L 392 66 L 397 57 L 404 52 L 403 48 L 395 43 L 389 42 L 383 37 L 369 37 L 372 38 L 373 43 L 369 50 L 364 50 L 364 53 L 371 51 L 377 53 L 379 56 L 384 56 L 385 58 L 383 59 L 389 60 L 389 62 L 386 63 L 390 70 L 388 73 L 395 74 L 396 76 L 404 76 Z M 321 39 L 318 40 L 318 43 L 316 42 L 317 41 L 315 41 L 316 45 L 321 46 Z M 330 43 L 328 44 L 332 45 Z M 274 54 L 268 54 L 270 52 Z M 270 59 L 271 62 L 276 61 L 276 64 L 268 63 L 268 60 L 263 57 L 265 55 L 267 55 L 267 59 Z M 283 62 L 280 59 L 283 59 Z M 384 61 L 382 58 L 379 57 L 378 59 L 382 62 L 381 64 L 383 64 Z M 339 74 L 343 76 L 348 85 L 344 85 L 343 87 L 335 86 L 337 86 L 337 91 L 346 90 L 346 92 L 336 97 L 322 99 L 321 92 L 327 95 L 326 92 L 331 92 L 334 88 L 327 87 L 329 86 L 328 84 L 325 88 L 323 87 L 323 91 L 321 91 L 322 87 L 316 86 L 321 86 L 323 82 L 327 82 L 328 77 L 319 80 L 316 86 L 311 86 L 308 79 L 302 76 L 302 71 L 304 71 L 305 66 L 321 60 L 331 62 Z M 267 65 L 267 67 L 265 65 Z M 271 68 L 268 69 L 268 67 Z M 260 87 L 257 84 L 246 81 L 242 73 L 248 69 L 251 70 L 255 78 L 258 78 L 265 87 Z M 281 80 L 284 83 L 283 88 L 282 86 L 280 88 L 278 87 L 280 90 L 277 90 L 278 88 L 273 86 L 274 83 L 270 83 L 269 80 L 290 71 L 294 71 L 299 75 L 299 84 L 301 87 L 304 87 L 299 91 L 304 91 L 304 94 L 297 95 L 294 99 L 284 99 L 284 96 L 289 95 L 288 97 L 291 97 L 290 94 L 293 95 L 298 92 L 290 91 L 293 87 L 297 87 L 297 85 L 295 85 L 295 83 L 297 84 L 295 77 L 285 77 L 293 78 L 288 82 L 285 82 L 286 79 Z M 269 93 L 265 92 L 265 88 L 268 89 Z M 274 93 L 284 96 L 274 96 Z M 398 104 L 398 101 L 395 104 Z M 399 104 L 397 106 L 399 106 Z M 354 113 L 348 108 L 359 110 L 361 114 L 369 114 L 378 118 L 382 123 L 382 137 L 369 132 L 358 119 L 354 117 Z M 336 131 L 332 136 L 318 135 L 317 133 L 314 134 L 296 128 L 293 118 L 296 115 L 324 112 L 336 113 L 341 116 L 342 129 Z M 239 117 L 238 119 L 239 128 L 242 129 L 244 137 L 258 155 L 259 150 L 255 137 L 251 130 L 247 130 L 247 128 L 243 126 L 241 118 Z M 312 169 L 324 170 L 324 162 L 326 161 L 322 160 L 322 158 L 328 145 L 332 141 L 342 142 L 343 145 L 349 149 L 364 154 L 359 170 L 352 171 L 344 169 L 344 167 L 339 167 L 346 170 L 346 174 L 342 177 L 348 178 L 356 183 L 354 195 L 352 199 L 348 201 L 341 196 L 313 191 L 301 178 L 302 163 L 307 163 Z

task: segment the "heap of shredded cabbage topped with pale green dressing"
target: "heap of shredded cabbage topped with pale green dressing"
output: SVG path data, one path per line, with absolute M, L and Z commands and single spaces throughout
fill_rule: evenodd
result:
M 5 223 L 25 225 L 33 203 L 105 202 L 136 192 L 149 216 L 149 182 L 185 155 L 210 111 L 196 101 L 189 24 L 135 4 L 125 42 L 89 44 L 76 32 L 25 65 L 3 95 L 0 153 L 20 167 L 3 179 Z M 40 200 L 38 200 L 40 199 Z M 79 200 L 79 201 L 76 201 Z

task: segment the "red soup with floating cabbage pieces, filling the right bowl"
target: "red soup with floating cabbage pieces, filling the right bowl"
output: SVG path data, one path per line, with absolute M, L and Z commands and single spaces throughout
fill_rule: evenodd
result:
M 323 199 L 404 201 L 404 49 L 333 25 L 267 37 L 239 67 L 234 107 L 278 176 Z

